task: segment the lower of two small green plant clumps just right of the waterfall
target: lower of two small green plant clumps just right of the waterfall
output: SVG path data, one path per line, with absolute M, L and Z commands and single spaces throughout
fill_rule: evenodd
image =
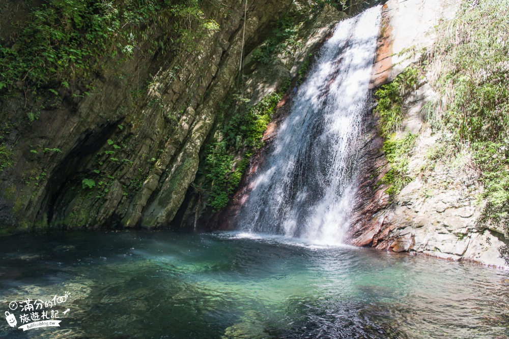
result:
M 379 184 L 390 186 L 386 191 L 390 196 L 400 193 L 413 179 L 408 171 L 408 159 L 416 140 L 417 134 L 407 133 L 401 139 L 395 139 L 395 136 L 391 135 L 383 143 L 383 151 L 390 168 Z

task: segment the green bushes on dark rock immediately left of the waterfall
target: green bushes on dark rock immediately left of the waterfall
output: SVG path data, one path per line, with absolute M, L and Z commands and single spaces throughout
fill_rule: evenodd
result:
M 234 107 L 235 114 L 218 133 L 219 138 L 209 148 L 205 161 L 206 186 L 210 187 L 207 203 L 213 211 L 228 204 L 252 153 L 263 146 L 262 137 L 280 99 L 280 94 L 272 93 L 249 107 L 248 100 L 232 98 L 228 107 Z M 234 159 L 232 154 L 241 147 L 247 149 L 244 156 Z

